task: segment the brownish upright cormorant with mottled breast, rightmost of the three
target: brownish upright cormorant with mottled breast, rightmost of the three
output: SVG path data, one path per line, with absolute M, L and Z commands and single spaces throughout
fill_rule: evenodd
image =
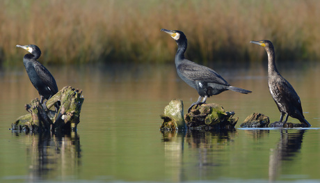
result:
M 268 54 L 268 86 L 271 96 L 281 113 L 280 120 L 271 124 L 271 127 L 283 127 L 289 116 L 298 119 L 304 127 L 311 127 L 310 123 L 303 116 L 300 97 L 291 84 L 280 75 L 277 67 L 275 67 L 275 51 L 272 42 L 269 40 L 250 42 L 264 47 Z M 285 114 L 287 116 L 285 121 L 282 122 Z

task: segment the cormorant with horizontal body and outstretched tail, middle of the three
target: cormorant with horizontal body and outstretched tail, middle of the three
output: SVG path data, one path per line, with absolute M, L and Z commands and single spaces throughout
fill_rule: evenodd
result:
M 184 35 L 182 31 L 166 29 L 161 29 L 161 31 L 170 34 L 171 37 L 177 42 L 178 49 L 177 53 L 175 54 L 175 67 L 177 69 L 177 74 L 182 80 L 184 80 L 184 82 L 189 84 L 189 86 L 195 88 L 200 95 L 198 101 L 191 104 L 189 110 L 195 104 L 205 103 L 207 97 L 210 97 L 211 95 L 218 95 L 225 90 L 233 90 L 245 94 L 251 93 L 249 90 L 230 86 L 230 84 L 227 83 L 223 77 L 209 67 L 193 63 L 184 58 L 187 40 L 186 35 Z M 204 98 L 202 102 L 200 102 L 202 97 Z

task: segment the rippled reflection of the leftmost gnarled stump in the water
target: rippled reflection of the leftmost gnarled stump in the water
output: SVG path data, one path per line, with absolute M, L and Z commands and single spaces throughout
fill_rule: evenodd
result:
M 15 136 L 22 136 L 16 133 Z M 75 171 L 81 166 L 80 137 L 77 132 L 69 134 L 26 134 L 27 162 L 29 164 L 29 177 L 33 182 L 46 180 L 49 177 L 59 175 L 75 175 Z

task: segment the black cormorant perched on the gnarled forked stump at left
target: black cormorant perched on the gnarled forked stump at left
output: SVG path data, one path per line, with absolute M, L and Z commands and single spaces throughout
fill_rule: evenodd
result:
M 26 73 L 35 89 L 38 90 L 40 95 L 40 103 L 43 104 L 43 100 L 49 100 L 50 97 L 58 92 L 58 86 L 56 86 L 56 80 L 47 70 L 45 66 L 37 61 L 41 55 L 39 47 L 36 45 L 17 45 L 29 51 L 31 54 L 24 56 L 24 67 L 26 67 Z

